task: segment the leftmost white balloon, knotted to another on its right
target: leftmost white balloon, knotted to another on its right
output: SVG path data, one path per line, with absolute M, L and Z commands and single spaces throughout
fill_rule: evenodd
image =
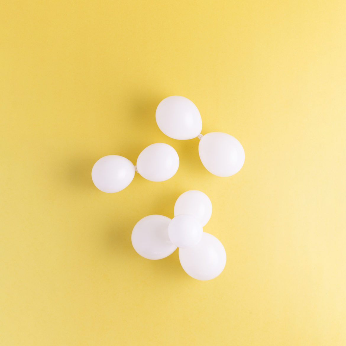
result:
M 119 155 L 103 156 L 96 161 L 91 171 L 95 186 L 108 193 L 125 189 L 135 176 L 135 166 Z

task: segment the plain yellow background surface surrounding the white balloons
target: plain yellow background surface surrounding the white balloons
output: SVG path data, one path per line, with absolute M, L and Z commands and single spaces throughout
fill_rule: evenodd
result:
M 346 3 L 1 1 L 0 344 L 346 345 Z M 245 149 L 213 176 L 166 137 L 183 95 Z M 165 182 L 106 194 L 98 158 L 176 148 Z M 227 251 L 202 282 L 131 230 L 198 189 Z

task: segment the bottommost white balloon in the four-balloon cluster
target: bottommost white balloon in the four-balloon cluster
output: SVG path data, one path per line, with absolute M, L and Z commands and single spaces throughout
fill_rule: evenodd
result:
M 179 249 L 184 271 L 197 280 L 211 280 L 221 274 L 226 265 L 226 251 L 220 240 L 203 232 L 202 240 L 189 249 Z

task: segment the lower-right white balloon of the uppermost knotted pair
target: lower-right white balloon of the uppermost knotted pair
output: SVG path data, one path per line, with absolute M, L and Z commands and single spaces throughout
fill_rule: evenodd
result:
M 245 161 L 244 149 L 239 141 L 223 132 L 204 135 L 199 142 L 198 152 L 204 167 L 218 176 L 236 174 Z

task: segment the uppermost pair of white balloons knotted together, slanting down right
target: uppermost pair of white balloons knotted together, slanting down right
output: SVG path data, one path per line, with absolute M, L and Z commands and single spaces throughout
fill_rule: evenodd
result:
M 156 109 L 160 130 L 174 139 L 200 138 L 198 152 L 206 169 L 218 176 L 236 174 L 245 161 L 243 146 L 223 132 L 201 134 L 202 118 L 195 104 L 183 96 L 163 99 Z

